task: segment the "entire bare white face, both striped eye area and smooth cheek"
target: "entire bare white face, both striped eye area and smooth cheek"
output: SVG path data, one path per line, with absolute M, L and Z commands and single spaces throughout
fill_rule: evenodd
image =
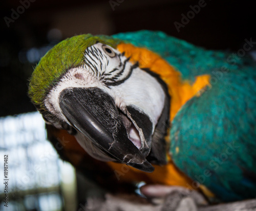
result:
M 113 97 L 124 113 L 126 106 L 141 109 L 152 121 L 153 132 L 164 107 L 165 93 L 157 79 L 102 43 L 89 46 L 84 52 L 83 66 L 69 69 L 45 100 L 47 109 L 67 123 L 58 98 L 63 89 L 70 87 L 98 87 Z

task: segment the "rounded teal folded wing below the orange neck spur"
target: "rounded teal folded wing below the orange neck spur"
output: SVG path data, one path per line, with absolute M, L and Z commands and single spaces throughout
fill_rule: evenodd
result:
M 256 196 L 256 74 L 249 71 L 230 71 L 189 100 L 170 132 L 176 165 L 223 201 Z

